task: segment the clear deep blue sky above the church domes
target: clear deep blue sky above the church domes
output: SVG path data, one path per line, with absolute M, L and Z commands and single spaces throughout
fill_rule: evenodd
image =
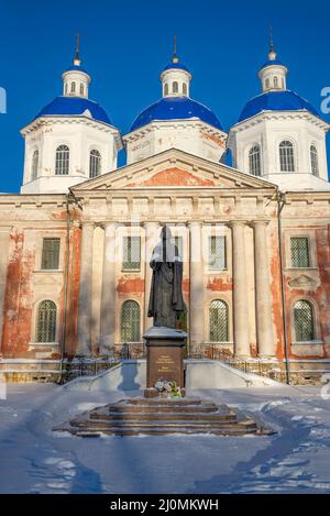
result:
M 271 24 L 279 58 L 289 66 L 288 87 L 320 108 L 320 91 L 330 86 L 329 17 L 324 0 L 0 0 L 0 87 L 8 95 L 8 113 L 0 114 L 0 191 L 19 191 L 19 130 L 61 95 L 77 32 L 82 66 L 92 77 L 90 98 L 123 133 L 161 96 L 158 74 L 174 34 L 194 74 L 193 98 L 228 130 L 260 91 Z

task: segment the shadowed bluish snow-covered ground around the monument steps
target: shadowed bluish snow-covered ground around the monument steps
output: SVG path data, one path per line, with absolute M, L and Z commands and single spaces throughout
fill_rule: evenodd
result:
M 318 387 L 194 391 L 260 415 L 268 437 L 54 433 L 70 416 L 141 393 L 8 387 L 0 400 L 0 493 L 330 492 L 330 402 Z

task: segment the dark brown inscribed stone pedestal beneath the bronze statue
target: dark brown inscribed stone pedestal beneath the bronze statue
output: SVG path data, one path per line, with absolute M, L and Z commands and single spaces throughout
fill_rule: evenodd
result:
M 185 387 L 184 353 L 187 333 L 165 327 L 152 327 L 143 336 L 146 345 L 145 397 L 158 396 L 154 385 L 160 380 Z

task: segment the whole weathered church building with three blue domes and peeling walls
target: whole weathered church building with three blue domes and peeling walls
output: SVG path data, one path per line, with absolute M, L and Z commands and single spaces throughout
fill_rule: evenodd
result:
M 187 358 L 293 383 L 330 372 L 329 124 L 287 72 L 272 44 L 262 92 L 228 134 L 174 53 L 162 98 L 122 135 L 76 54 L 62 95 L 21 131 L 21 193 L 0 195 L 7 380 L 143 359 L 164 224 L 184 263 Z

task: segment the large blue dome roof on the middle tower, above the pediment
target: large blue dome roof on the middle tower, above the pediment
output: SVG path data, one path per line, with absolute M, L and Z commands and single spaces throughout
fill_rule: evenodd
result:
M 222 125 L 216 114 L 206 106 L 188 97 L 164 97 L 146 108 L 136 117 L 131 131 L 153 121 L 162 120 L 201 120 L 222 131 Z

